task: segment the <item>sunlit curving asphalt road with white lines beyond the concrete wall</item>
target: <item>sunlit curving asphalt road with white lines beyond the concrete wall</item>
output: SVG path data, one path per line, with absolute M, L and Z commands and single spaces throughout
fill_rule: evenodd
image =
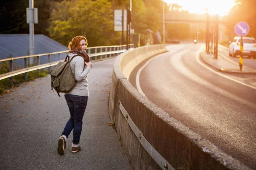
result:
M 139 65 L 130 82 L 195 133 L 256 169 L 256 89 L 201 65 L 197 54 L 204 50 L 203 44 L 181 43 L 167 48 L 169 52 Z M 256 75 L 223 75 L 250 81 L 256 87 Z

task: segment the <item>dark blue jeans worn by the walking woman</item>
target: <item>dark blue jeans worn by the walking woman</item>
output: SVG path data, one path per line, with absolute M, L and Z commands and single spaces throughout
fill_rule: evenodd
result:
M 72 94 L 65 94 L 64 96 L 70 110 L 70 119 L 67 121 L 61 135 L 65 135 L 68 138 L 70 132 L 74 129 L 73 144 L 79 144 L 88 96 L 77 96 Z

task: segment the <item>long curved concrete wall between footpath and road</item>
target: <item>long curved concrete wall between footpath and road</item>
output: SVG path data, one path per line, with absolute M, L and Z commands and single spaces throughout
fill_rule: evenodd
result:
M 166 52 L 163 45 L 150 45 L 120 54 L 113 68 L 109 111 L 118 136 L 135 170 L 161 169 L 143 148 L 122 115 L 125 108 L 147 141 L 168 163 L 187 170 L 249 170 L 238 160 L 223 153 L 211 142 L 189 130 L 154 105 L 128 81 L 131 71 L 144 59 Z

